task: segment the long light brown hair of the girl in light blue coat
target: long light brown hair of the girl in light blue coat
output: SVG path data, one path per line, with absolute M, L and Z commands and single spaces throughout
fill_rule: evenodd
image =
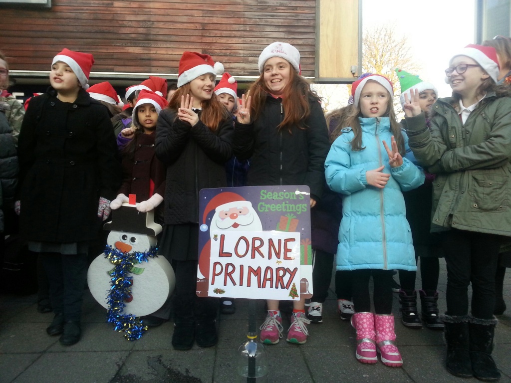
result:
M 390 120 L 390 131 L 392 135 L 394 136 L 394 139 L 396 139 L 396 142 L 398 144 L 398 150 L 399 153 L 401 153 L 402 156 L 405 155 L 405 140 L 403 139 L 403 134 L 401 133 L 401 126 L 398 123 L 398 120 L 396 118 L 396 112 L 394 112 L 394 108 L 392 105 L 392 98 L 390 97 L 390 93 L 388 93 L 388 104 L 387 104 L 387 110 L 384 117 L 388 117 Z M 344 119 L 344 124 L 346 127 L 351 127 L 353 130 L 353 134 L 355 134 L 355 137 L 353 137 L 353 140 L 351 141 L 351 149 L 353 151 L 360 151 L 365 148 L 362 148 L 362 129 L 360 128 L 360 121 L 358 120 L 359 117 L 363 117 L 362 112 L 360 110 L 360 104 L 358 106 L 353 106 L 347 114 Z

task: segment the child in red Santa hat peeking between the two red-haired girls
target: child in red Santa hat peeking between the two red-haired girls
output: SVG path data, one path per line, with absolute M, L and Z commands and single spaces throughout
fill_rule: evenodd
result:
M 224 104 L 225 109 L 233 116 L 233 124 L 236 111 L 238 109 L 238 82 L 234 77 L 225 72 L 222 78 L 215 86 L 215 94 L 218 100 Z M 235 156 L 232 156 L 225 163 L 225 172 L 227 176 L 227 186 L 246 186 L 248 171 L 248 160 L 240 161 Z M 225 298 L 220 304 L 220 312 L 222 314 L 234 314 L 236 307 L 234 299 Z

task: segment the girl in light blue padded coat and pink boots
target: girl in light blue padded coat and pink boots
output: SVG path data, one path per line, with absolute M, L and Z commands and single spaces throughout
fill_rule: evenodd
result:
M 325 163 L 328 185 L 343 195 L 337 270 L 353 270 L 357 359 L 376 363 L 378 350 L 384 365 L 400 367 L 403 360 L 394 344 L 391 314 L 392 273 L 416 270 L 402 190 L 422 185 L 424 173 L 402 157 L 407 138 L 392 109 L 392 83 L 384 76 L 369 75 L 353 83 L 352 95 L 347 127 Z M 370 276 L 376 314 L 370 312 Z

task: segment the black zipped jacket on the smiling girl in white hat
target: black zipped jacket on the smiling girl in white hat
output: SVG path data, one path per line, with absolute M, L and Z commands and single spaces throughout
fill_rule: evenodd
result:
M 247 185 L 308 185 L 319 200 L 326 183 L 324 161 L 330 150 L 327 123 L 321 105 L 310 99 L 306 128 L 277 129 L 284 119 L 282 99 L 268 95 L 261 114 L 250 124 L 235 122 L 233 151 L 251 158 Z

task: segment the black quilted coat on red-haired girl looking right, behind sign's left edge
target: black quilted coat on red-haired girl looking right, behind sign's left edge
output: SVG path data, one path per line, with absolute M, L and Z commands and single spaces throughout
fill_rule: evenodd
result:
M 167 165 L 165 223 L 198 223 L 199 190 L 227 185 L 224 164 L 233 153 L 233 121 L 226 118 L 212 132 L 200 119 L 191 127 L 175 117 L 164 109 L 156 126 L 156 157 Z

